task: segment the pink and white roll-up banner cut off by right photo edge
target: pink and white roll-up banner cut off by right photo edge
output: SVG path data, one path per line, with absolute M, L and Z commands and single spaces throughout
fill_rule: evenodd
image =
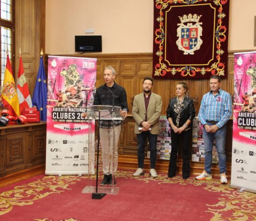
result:
M 234 54 L 230 186 L 256 192 L 256 52 Z

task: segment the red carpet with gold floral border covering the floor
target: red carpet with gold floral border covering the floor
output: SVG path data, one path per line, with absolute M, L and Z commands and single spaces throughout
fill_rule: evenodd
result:
M 0 221 L 256 220 L 256 194 L 218 179 L 132 177 L 118 171 L 120 191 L 103 199 L 82 194 L 87 177 L 39 175 L 0 188 Z

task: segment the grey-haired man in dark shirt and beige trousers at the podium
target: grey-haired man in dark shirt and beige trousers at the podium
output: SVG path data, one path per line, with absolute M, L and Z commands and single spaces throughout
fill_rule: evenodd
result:
M 127 117 L 128 104 L 127 95 L 124 88 L 114 81 L 116 71 L 112 66 L 106 66 L 104 70 L 105 84 L 96 89 L 93 105 L 109 105 L 121 107 L 120 114 Z M 102 164 L 104 179 L 101 186 L 112 185 L 112 174 L 116 172 L 118 162 L 118 140 L 121 132 L 122 120 L 100 120 L 100 141 L 102 147 Z M 115 139 L 113 139 L 115 138 Z M 111 158 L 113 156 L 113 164 Z M 114 180 L 116 185 L 116 180 Z

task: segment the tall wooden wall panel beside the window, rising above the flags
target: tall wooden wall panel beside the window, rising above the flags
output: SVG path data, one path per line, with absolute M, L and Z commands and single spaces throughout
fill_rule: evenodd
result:
M 43 49 L 45 52 L 45 10 L 45 0 L 15 0 L 15 73 L 17 76 L 21 48 L 31 96 L 35 88 L 40 51 Z

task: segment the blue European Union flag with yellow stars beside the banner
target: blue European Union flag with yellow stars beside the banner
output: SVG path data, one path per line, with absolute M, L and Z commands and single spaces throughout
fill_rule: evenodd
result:
M 47 120 L 47 83 L 46 73 L 43 64 L 43 56 L 40 58 L 40 65 L 37 73 L 35 89 L 32 99 L 32 106 L 40 110 L 40 120 Z

